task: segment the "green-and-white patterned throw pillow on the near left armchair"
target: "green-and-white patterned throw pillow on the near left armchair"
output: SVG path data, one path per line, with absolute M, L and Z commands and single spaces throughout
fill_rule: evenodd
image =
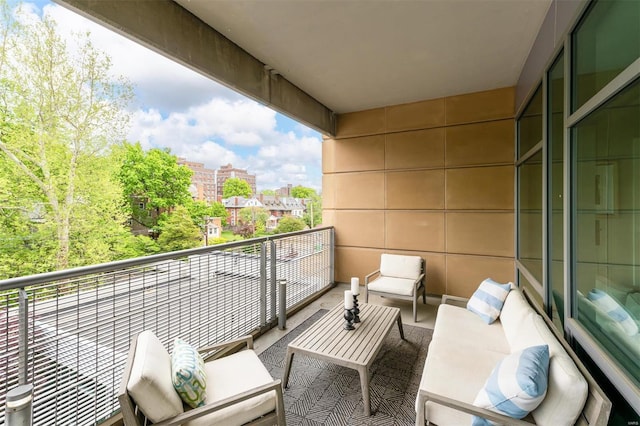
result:
M 180 338 L 173 342 L 171 381 L 180 398 L 191 408 L 204 405 L 207 398 L 207 376 L 204 360 L 191 345 Z

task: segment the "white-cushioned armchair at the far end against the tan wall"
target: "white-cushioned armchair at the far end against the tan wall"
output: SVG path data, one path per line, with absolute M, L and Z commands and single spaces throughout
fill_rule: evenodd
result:
M 369 293 L 411 300 L 413 301 L 413 321 L 417 322 L 418 296 L 422 294 L 422 303 L 427 303 L 425 273 L 426 263 L 420 256 L 384 253 L 380 256 L 380 269 L 364 278 L 365 303 L 369 301 Z

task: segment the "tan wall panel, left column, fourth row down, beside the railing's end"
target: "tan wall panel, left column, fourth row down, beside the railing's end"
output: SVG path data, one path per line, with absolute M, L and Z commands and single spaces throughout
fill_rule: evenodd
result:
M 384 212 L 382 210 L 337 210 L 335 212 L 336 245 L 357 247 L 384 246 Z

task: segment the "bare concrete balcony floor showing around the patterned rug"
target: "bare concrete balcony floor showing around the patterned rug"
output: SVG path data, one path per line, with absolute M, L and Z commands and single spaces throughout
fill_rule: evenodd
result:
M 318 309 L 331 309 L 339 303 L 344 303 L 344 291 L 350 290 L 351 287 L 346 283 L 338 283 L 334 288 L 323 294 L 320 298 L 316 299 L 311 304 L 305 306 L 294 315 L 287 318 L 286 329 L 279 330 L 274 328 L 269 330 L 265 334 L 255 339 L 254 349 L 260 354 L 269 346 L 277 342 L 280 338 L 285 336 L 291 330 L 296 328 L 299 324 L 304 322 L 311 315 L 316 313 Z M 360 303 L 364 302 L 364 287 L 360 287 L 360 296 L 358 300 Z M 384 306 L 394 306 L 400 308 L 402 315 L 402 324 L 424 327 L 433 329 L 436 312 L 440 305 L 441 298 L 427 296 L 427 303 L 423 304 L 422 300 L 418 301 L 418 322 L 413 322 L 413 309 L 412 302 L 401 299 L 388 299 L 380 296 L 372 295 L 369 297 L 369 303 L 375 303 Z

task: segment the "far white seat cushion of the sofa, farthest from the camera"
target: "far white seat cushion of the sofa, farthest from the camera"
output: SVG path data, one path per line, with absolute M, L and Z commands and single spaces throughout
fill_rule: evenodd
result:
M 455 341 L 458 351 L 473 348 L 511 352 L 500 321 L 487 325 L 473 312 L 446 304 L 438 307 L 433 337 Z

